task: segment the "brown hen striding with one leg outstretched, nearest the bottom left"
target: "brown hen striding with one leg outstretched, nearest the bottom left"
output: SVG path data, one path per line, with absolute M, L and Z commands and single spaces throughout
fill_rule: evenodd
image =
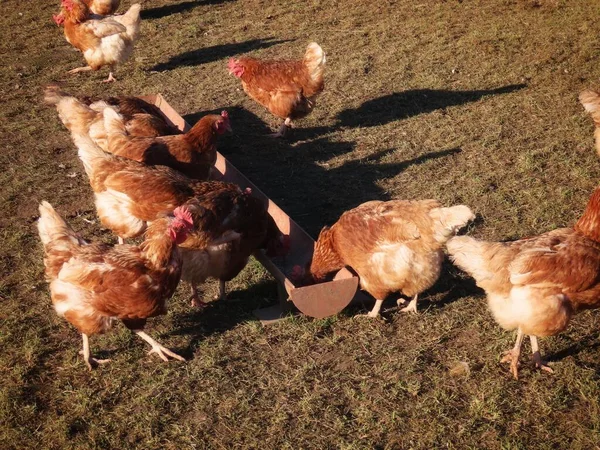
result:
M 177 244 L 192 228 L 190 212 L 179 208 L 174 217 L 154 221 L 139 246 L 88 244 L 42 202 L 38 230 L 52 303 L 82 334 L 83 358 L 90 370 L 108 360 L 90 355 L 88 337 L 108 331 L 115 319 L 148 342 L 150 353 L 164 361 L 184 361 L 143 329 L 148 318 L 166 313 L 166 301 L 181 276 Z

